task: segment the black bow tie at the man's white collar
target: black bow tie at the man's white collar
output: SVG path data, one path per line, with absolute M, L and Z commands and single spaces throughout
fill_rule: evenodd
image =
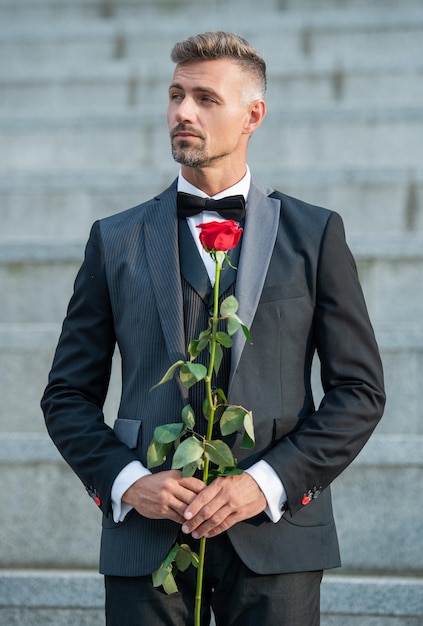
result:
M 216 211 L 226 220 L 242 222 L 245 217 L 245 198 L 239 195 L 213 200 L 178 191 L 177 208 L 180 218 L 192 217 L 202 211 Z

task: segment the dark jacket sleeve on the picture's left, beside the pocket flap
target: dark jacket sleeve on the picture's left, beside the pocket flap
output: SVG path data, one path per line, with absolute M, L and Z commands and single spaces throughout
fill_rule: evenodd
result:
M 115 343 L 96 222 L 75 280 L 41 407 L 59 452 L 106 514 L 111 510 L 115 477 L 125 465 L 137 460 L 104 422 Z

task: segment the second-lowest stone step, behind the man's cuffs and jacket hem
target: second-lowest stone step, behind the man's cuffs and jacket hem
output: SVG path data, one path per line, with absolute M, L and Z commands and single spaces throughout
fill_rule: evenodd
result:
M 3 433 L 0 443 L 0 494 L 8 503 L 0 567 L 95 569 L 100 513 L 47 435 Z M 422 444 L 422 435 L 375 433 L 333 483 L 343 571 L 422 574 Z M 397 514 L 404 502 L 406 516 Z

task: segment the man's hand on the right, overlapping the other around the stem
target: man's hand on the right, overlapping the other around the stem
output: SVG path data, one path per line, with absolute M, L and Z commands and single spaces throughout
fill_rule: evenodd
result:
M 182 531 L 195 539 L 215 537 L 237 522 L 258 515 L 266 506 L 263 492 L 249 474 L 222 476 L 189 504 Z

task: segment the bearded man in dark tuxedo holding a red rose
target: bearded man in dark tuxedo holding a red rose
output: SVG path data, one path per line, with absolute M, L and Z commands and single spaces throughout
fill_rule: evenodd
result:
M 192 568 L 178 574 L 179 594 L 151 584 L 178 535 L 208 538 L 204 624 L 211 605 L 219 626 L 315 626 L 322 570 L 339 565 L 329 485 L 383 412 L 378 349 L 341 218 L 251 177 L 247 146 L 266 113 L 264 61 L 222 32 L 176 44 L 172 60 L 167 120 L 179 177 L 94 224 L 42 401 L 47 427 L 104 514 L 110 626 L 193 623 Z M 235 294 L 253 342 L 234 336 L 219 382 L 228 402 L 252 410 L 256 446 L 232 441 L 246 471 L 207 487 L 169 462 L 146 469 L 155 427 L 180 421 L 188 401 L 201 414 L 198 392 L 176 378 L 150 391 L 187 358 L 209 315 L 213 268 L 196 225 L 220 217 L 178 219 L 177 191 L 246 198 L 238 271 L 227 268 L 221 296 Z M 102 406 L 116 342 L 123 382 L 112 430 Z M 324 389 L 317 410 L 315 350 Z

